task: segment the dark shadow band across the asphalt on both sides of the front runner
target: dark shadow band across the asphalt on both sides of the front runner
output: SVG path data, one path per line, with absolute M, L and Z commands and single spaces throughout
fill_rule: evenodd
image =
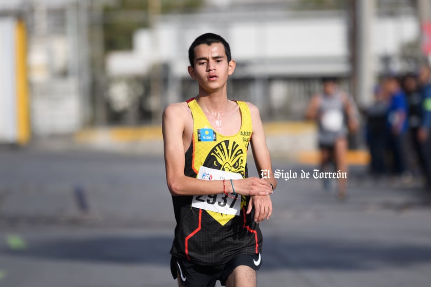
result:
M 169 236 L 60 238 L 34 242 L 25 250 L 0 252 L 66 261 L 167 266 L 172 239 Z M 431 262 L 431 246 L 267 236 L 263 260 L 263 270 L 376 270 Z

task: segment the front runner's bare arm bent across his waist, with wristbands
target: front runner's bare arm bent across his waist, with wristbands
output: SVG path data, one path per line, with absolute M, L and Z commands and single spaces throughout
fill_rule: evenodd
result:
M 223 181 L 204 181 L 184 174 L 183 134 L 187 122 L 191 120 L 182 103 L 171 104 L 163 112 L 162 133 L 166 167 L 166 182 L 172 195 L 205 195 L 223 193 Z M 226 192 L 232 193 L 229 181 L 225 182 Z M 268 195 L 270 185 L 263 179 L 247 178 L 234 180 L 235 192 L 242 195 Z

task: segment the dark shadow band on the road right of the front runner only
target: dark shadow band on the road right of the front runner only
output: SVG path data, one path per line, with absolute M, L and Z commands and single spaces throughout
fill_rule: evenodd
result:
M 264 270 L 376 270 L 431 262 L 431 246 L 269 237 L 264 255 Z

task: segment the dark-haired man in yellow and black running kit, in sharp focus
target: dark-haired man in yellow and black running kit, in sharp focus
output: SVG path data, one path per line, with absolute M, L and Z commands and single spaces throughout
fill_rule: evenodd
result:
M 188 51 L 188 73 L 199 94 L 163 113 L 166 181 L 172 195 L 175 238 L 171 273 L 179 286 L 256 286 L 262 264 L 259 223 L 272 214 L 276 187 L 256 106 L 227 97 L 235 70 L 229 44 L 207 33 Z M 258 173 L 248 178 L 251 143 Z

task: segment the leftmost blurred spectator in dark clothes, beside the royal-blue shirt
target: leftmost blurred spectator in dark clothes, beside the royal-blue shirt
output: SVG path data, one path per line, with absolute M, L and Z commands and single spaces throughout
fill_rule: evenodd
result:
M 367 142 L 370 149 L 370 171 L 379 177 L 386 172 L 385 148 L 387 143 L 387 110 L 389 104 L 386 94 L 379 85 L 374 90 L 374 103 L 366 111 Z

